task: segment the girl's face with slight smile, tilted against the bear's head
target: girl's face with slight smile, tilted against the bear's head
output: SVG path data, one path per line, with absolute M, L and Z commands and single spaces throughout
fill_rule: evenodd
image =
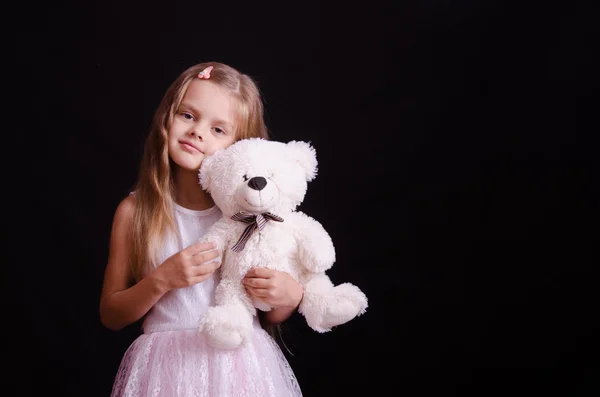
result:
M 209 80 L 193 80 L 169 130 L 169 156 L 197 172 L 202 160 L 235 141 L 235 114 L 229 94 Z

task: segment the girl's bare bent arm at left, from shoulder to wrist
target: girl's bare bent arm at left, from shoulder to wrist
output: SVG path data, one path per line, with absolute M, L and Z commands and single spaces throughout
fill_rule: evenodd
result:
M 110 236 L 108 264 L 100 297 L 100 320 L 114 331 L 141 319 L 167 292 L 165 283 L 155 277 L 155 273 L 131 286 L 133 274 L 129 254 L 134 211 L 135 199 L 128 196 L 117 207 Z

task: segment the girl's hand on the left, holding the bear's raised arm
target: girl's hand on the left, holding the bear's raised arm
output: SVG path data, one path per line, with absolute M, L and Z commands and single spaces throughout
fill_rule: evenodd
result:
M 165 292 L 200 283 L 221 266 L 220 252 L 214 248 L 214 243 L 192 244 L 169 257 L 150 276 Z

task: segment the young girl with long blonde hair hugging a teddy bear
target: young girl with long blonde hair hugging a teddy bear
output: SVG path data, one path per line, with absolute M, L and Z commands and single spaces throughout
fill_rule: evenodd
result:
M 143 317 L 143 334 L 125 353 L 112 396 L 301 395 L 258 318 L 252 339 L 235 350 L 213 348 L 198 332 L 220 265 L 212 244 L 198 240 L 221 216 L 198 170 L 205 156 L 248 137 L 267 138 L 262 100 L 252 79 L 232 67 L 192 66 L 165 93 L 135 191 L 113 220 L 100 317 L 112 330 Z M 261 314 L 266 327 L 285 321 L 302 299 L 287 273 L 252 269 L 243 281 L 277 307 Z

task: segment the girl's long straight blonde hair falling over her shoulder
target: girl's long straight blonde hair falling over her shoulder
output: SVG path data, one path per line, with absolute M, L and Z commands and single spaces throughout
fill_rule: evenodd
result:
M 177 77 L 154 114 L 135 186 L 130 263 L 136 281 L 142 278 L 145 266 L 152 268 L 158 265 L 155 262 L 160 242 L 169 231 L 176 232 L 172 216 L 175 196 L 173 164 L 167 145 L 169 128 L 189 84 L 208 66 L 213 67 L 210 82 L 227 90 L 234 99 L 237 116 L 235 140 L 251 137 L 268 139 L 260 91 L 251 77 L 219 62 L 191 66 Z

